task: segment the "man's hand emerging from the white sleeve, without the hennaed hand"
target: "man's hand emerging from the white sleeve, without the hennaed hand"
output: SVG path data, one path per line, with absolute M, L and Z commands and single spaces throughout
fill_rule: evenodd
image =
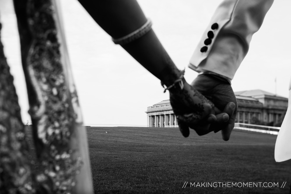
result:
M 218 110 L 215 109 L 215 114 L 220 113 L 220 111 L 228 113 L 230 118 L 228 122 L 222 122 L 223 119 L 220 119 L 212 123 L 209 128 L 209 131 L 214 132 L 221 130 L 223 140 L 227 141 L 233 130 L 237 114 L 237 99 L 232 87 L 226 80 L 208 74 L 198 75 L 191 86 L 214 103 L 215 107 L 218 108 Z M 196 126 L 195 130 L 199 131 L 199 126 Z

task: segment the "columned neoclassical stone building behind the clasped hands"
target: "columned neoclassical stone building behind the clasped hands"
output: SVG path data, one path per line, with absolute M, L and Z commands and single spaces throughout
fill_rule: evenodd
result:
M 265 124 L 279 123 L 288 108 L 288 98 L 263 90 L 235 92 L 238 111 L 235 122 Z M 177 127 L 170 100 L 163 100 L 147 108 L 148 127 Z M 257 123 L 256 123 L 257 124 Z

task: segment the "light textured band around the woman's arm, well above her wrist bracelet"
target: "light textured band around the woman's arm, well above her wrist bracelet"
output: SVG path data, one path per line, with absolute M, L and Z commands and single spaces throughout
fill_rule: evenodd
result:
M 139 29 L 133 31 L 132 33 L 129 33 L 128 35 L 125 35 L 121 38 L 112 38 L 112 41 L 115 44 L 119 45 L 126 45 L 129 42 L 132 42 L 136 39 L 141 38 L 143 35 L 148 33 L 152 29 L 152 21 L 150 19 L 147 19 L 145 24 L 143 24 Z

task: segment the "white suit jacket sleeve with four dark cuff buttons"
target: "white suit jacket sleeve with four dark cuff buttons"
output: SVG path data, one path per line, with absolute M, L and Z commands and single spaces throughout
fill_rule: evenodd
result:
M 233 79 L 273 1 L 224 0 L 202 35 L 189 68 Z

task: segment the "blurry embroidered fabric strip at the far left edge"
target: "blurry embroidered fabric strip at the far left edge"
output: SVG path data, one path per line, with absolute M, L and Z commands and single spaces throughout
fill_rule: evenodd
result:
M 30 161 L 13 76 L 0 41 L 0 193 L 36 192 Z

